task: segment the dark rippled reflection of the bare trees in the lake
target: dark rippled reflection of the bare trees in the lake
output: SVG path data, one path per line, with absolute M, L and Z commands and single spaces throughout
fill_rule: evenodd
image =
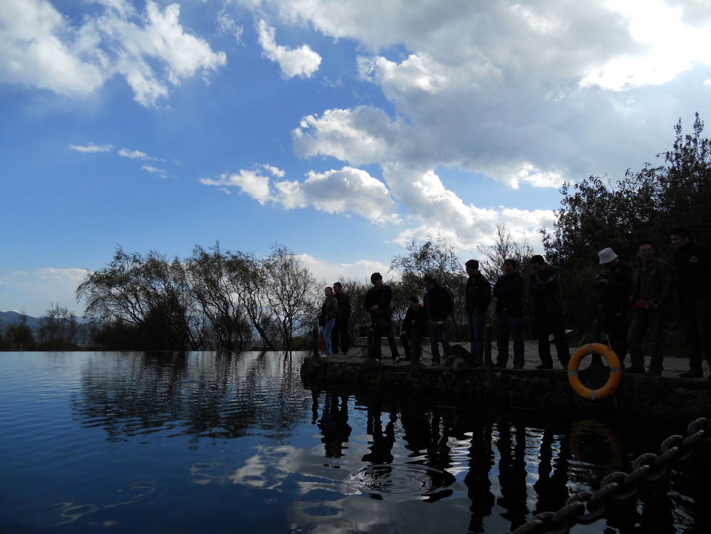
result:
M 82 370 L 73 408 L 112 440 L 175 429 L 226 439 L 251 428 L 279 439 L 303 407 L 300 363 L 269 352 L 102 353 Z

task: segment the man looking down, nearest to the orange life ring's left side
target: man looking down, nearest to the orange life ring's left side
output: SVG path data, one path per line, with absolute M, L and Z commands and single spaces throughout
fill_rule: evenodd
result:
M 570 348 L 563 326 L 563 294 L 561 292 L 561 272 L 558 267 L 548 265 L 543 256 L 531 258 L 529 274 L 529 294 L 531 311 L 538 332 L 538 355 L 541 364 L 536 369 L 553 369 L 549 334 L 553 334 L 556 354 L 564 369 L 570 361 Z

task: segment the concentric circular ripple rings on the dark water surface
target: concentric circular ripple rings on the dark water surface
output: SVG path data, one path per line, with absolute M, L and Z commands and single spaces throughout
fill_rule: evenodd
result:
M 454 481 L 451 473 L 419 463 L 384 463 L 354 471 L 346 484 L 375 498 L 406 500 L 448 495 Z

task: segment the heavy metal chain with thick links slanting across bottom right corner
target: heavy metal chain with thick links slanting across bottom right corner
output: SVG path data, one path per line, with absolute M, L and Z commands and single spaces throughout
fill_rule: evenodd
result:
M 607 513 L 612 505 L 636 500 L 640 486 L 667 476 L 670 468 L 689 459 L 711 443 L 711 421 L 701 417 L 687 426 L 687 436 L 670 436 L 660 446 L 661 454 L 645 453 L 632 464 L 629 474 L 611 473 L 596 492 L 581 491 L 566 500 L 557 512 L 535 515 L 525 525 L 505 534 L 569 534 L 577 524 L 589 525 Z

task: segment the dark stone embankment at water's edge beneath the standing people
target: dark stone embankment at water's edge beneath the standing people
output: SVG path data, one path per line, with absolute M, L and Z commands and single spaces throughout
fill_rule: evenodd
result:
M 623 373 L 615 393 L 606 399 L 581 399 L 569 384 L 567 371 L 557 361 L 554 369 L 536 369 L 539 364 L 537 344 L 526 342 L 524 369 L 494 366 L 490 361 L 474 367 L 468 344 L 452 344 L 450 355 L 440 366 L 432 366 L 429 348 L 423 349 L 423 361 L 394 364 L 390 350 L 383 346 L 380 363 L 368 358 L 367 351 L 353 347 L 348 354 L 323 357 L 316 352 L 301 367 L 301 377 L 308 386 L 357 387 L 402 394 L 433 395 L 452 404 L 473 404 L 503 408 L 555 410 L 556 414 L 613 411 L 621 416 L 654 418 L 665 421 L 692 421 L 711 416 L 711 380 L 683 379 L 687 359 L 665 359 L 665 369 L 657 378 Z M 487 351 L 489 352 L 489 351 Z M 490 352 L 487 354 L 490 358 Z M 485 357 L 485 360 L 487 357 Z M 598 359 L 587 356 L 581 362 L 580 378 L 591 389 L 601 387 L 608 369 Z M 495 356 L 494 356 L 495 361 Z

